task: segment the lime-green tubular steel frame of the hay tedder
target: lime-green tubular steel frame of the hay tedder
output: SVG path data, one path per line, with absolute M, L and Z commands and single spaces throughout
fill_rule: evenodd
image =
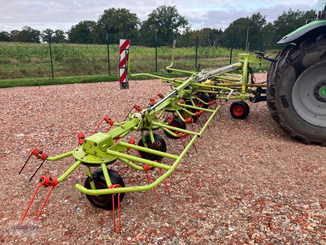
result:
M 169 71 L 181 71 L 172 68 L 174 62 L 174 50 L 175 43 L 173 45 L 171 64 L 166 69 Z M 121 123 L 113 123 L 112 125 L 114 125 L 115 128 L 111 129 L 107 133 L 98 132 L 94 135 L 85 138 L 83 140 L 82 145 L 76 147 L 73 151 L 54 157 L 47 157 L 46 160 L 48 161 L 55 161 L 68 156 L 73 156 L 76 159 L 76 162 L 58 178 L 58 183 L 65 180 L 70 173 L 72 173 L 77 167 L 83 164 L 86 165 L 86 173 L 89 177 L 92 177 L 90 170 L 91 166 L 101 166 L 106 184 L 109 187 L 111 185 L 111 180 L 107 171 L 107 165 L 113 164 L 116 160 L 119 160 L 136 170 L 145 171 L 142 165 L 147 164 L 152 167 L 164 169 L 166 170 L 166 172 L 149 185 L 96 189 L 94 183 L 91 182 L 91 189 L 84 188 L 79 184 L 76 184 L 75 188 L 80 190 L 84 194 L 96 196 L 103 194 L 115 194 L 153 189 L 174 171 L 174 169 L 178 166 L 178 164 L 183 159 L 189 148 L 193 145 L 194 141 L 203 134 L 208 124 L 212 121 L 215 114 L 220 109 L 220 105 L 216 106 L 215 109 L 199 108 L 194 103 L 195 99 L 205 105 L 209 105 L 209 103 L 201 100 L 195 95 L 195 93 L 200 92 L 206 93 L 208 95 L 214 94 L 216 99 L 248 100 L 249 93 L 254 91 L 252 89 L 252 86 L 266 87 L 266 85 L 247 83 L 248 63 L 259 64 L 262 60 L 262 57 L 259 55 L 241 54 L 239 55 L 239 62 L 215 70 L 204 69 L 201 72 L 181 71 L 190 74 L 190 77 L 186 80 L 165 78 L 151 74 L 131 74 L 130 60 L 131 49 L 129 48 L 127 72 L 130 77 L 146 75 L 153 78 L 162 79 L 162 82 L 170 83 L 171 88 L 173 88 L 169 92 L 167 92 L 166 96 L 155 105 L 148 106 L 142 111 L 130 113 L 128 115 L 127 121 Z M 231 71 L 236 69 L 241 69 L 242 75 L 230 73 Z M 182 99 L 190 100 L 192 105 L 186 105 L 181 103 L 180 101 Z M 168 111 L 171 112 L 173 115 L 178 115 L 184 121 L 180 114 L 180 111 L 185 111 L 189 115 L 195 116 L 195 114 L 191 112 L 191 109 L 197 109 L 203 111 L 204 113 L 210 113 L 210 116 L 208 117 L 206 123 L 204 123 L 202 129 L 199 132 L 173 127 L 170 126 L 168 123 L 164 123 L 162 121 L 163 119 L 161 120 L 164 112 Z M 144 147 L 126 143 L 121 140 L 118 142 L 114 142 L 115 139 L 123 139 L 132 131 L 141 132 L 141 136 L 144 141 L 143 130 L 146 130 L 150 135 L 152 143 L 154 143 L 153 130 L 157 128 L 161 128 L 162 130 L 174 137 L 178 137 L 178 135 L 172 133 L 172 131 L 181 132 L 183 136 L 191 135 L 193 137 L 190 138 L 191 140 L 189 140 L 188 144 L 185 146 L 185 149 L 179 155 L 168 154 L 158 150 L 147 148 L 146 142 L 144 142 Z M 164 156 L 168 158 L 170 162 L 172 162 L 172 164 L 163 164 L 160 162 L 129 155 L 127 154 L 128 149 L 134 149 L 137 151 L 142 151 L 162 157 Z M 40 154 L 38 154 L 38 156 L 40 156 Z

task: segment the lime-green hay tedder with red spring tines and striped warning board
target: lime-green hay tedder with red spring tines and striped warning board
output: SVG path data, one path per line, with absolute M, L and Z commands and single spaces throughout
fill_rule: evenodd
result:
M 127 120 L 123 122 L 116 123 L 109 117 L 104 117 L 102 122 L 110 124 L 109 129 L 105 133 L 96 132 L 99 128 L 98 126 L 91 136 L 85 137 L 82 133 L 78 134 L 78 146 L 70 152 L 50 157 L 36 148 L 31 154 L 36 155 L 43 161 L 55 161 L 73 156 L 76 162 L 66 172 L 57 179 L 42 176 L 39 179 L 40 185 L 38 188 L 44 185 L 52 186 L 53 189 L 54 186 L 65 180 L 77 167 L 84 165 L 88 177 L 84 186 L 76 184 L 75 188 L 86 194 L 88 200 L 97 207 L 114 210 L 114 207 L 118 205 L 119 224 L 119 203 L 122 201 L 124 193 L 150 189 L 154 189 L 155 191 L 155 188 L 161 182 L 165 183 L 165 179 L 174 171 L 185 154 L 187 154 L 190 147 L 194 145 L 195 140 L 203 134 L 209 123 L 215 117 L 217 111 L 220 109 L 220 105 L 216 105 L 216 99 L 249 99 L 248 92 L 254 90 L 248 88 L 247 66 L 248 63 L 261 62 L 261 57 L 259 55 L 250 56 L 241 54 L 239 62 L 230 66 L 215 70 L 204 69 L 201 72 L 186 72 L 191 74 L 191 76 L 185 80 L 171 79 L 152 74 L 131 74 L 129 46 L 129 40 L 120 40 L 119 76 L 121 89 L 129 88 L 128 76 L 135 77 L 139 75 L 162 79 L 162 82 L 169 82 L 174 88 L 167 92 L 165 96 L 159 93 L 156 96 L 156 98 L 160 98 L 157 103 L 154 98 L 151 98 L 150 105 L 144 109 L 141 108 L 141 106 L 135 105 L 135 111 L 132 112 L 131 110 L 126 117 Z M 167 67 L 167 70 L 180 71 L 172 68 L 174 50 L 175 42 L 173 44 L 172 62 L 171 65 Z M 235 69 L 242 69 L 242 75 L 228 73 Z M 241 79 L 242 82 L 240 83 Z M 256 85 L 250 84 L 250 86 Z M 165 118 L 164 115 L 166 113 L 170 113 L 171 115 Z M 206 116 L 206 114 L 208 116 Z M 199 120 L 202 126 L 201 130 L 199 132 L 189 130 L 188 124 L 194 123 L 200 116 L 206 120 L 203 124 L 201 124 Z M 111 128 L 112 126 L 113 128 Z M 184 146 L 184 150 L 180 154 L 173 155 L 166 153 L 164 139 L 153 133 L 154 130 L 159 128 L 161 128 L 169 138 L 180 139 Z M 122 139 L 128 136 L 132 131 L 137 131 L 141 134 L 141 139 L 137 145 L 133 139 L 129 139 L 128 142 L 122 141 Z M 148 131 L 148 134 L 145 135 L 144 131 Z M 186 144 L 184 144 L 185 139 L 182 141 L 182 138 L 187 139 Z M 130 150 L 133 150 L 135 154 L 130 154 Z M 139 156 L 136 156 L 137 153 Z M 168 159 L 164 161 L 168 162 L 167 164 L 161 161 L 163 157 Z M 159 168 L 161 176 L 152 181 L 147 173 L 150 184 L 126 187 L 120 175 L 107 168 L 108 165 L 113 164 L 116 160 L 125 163 L 131 168 L 146 173 L 154 168 Z M 91 167 L 101 167 L 101 169 L 92 173 Z M 163 173 L 162 170 L 165 172 Z M 170 193 L 169 189 L 168 192 Z M 28 205 L 28 208 L 31 203 L 32 201 Z M 27 211 L 28 209 L 24 217 Z

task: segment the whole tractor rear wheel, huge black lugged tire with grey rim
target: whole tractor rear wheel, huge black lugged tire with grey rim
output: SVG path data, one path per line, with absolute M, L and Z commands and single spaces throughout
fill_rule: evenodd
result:
M 326 146 L 326 35 L 293 46 L 279 59 L 269 77 L 267 105 L 293 137 Z

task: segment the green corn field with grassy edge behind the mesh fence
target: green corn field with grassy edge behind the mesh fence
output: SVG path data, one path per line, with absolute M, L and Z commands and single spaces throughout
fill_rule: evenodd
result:
M 251 47 L 251 52 L 260 51 Z M 242 49 L 231 47 L 177 47 L 174 68 L 196 70 L 234 63 Z M 269 50 L 274 57 L 278 50 Z M 170 65 L 170 46 L 131 46 L 131 71 L 153 73 Z M 0 81 L 57 77 L 98 76 L 118 73 L 118 44 L 0 42 Z

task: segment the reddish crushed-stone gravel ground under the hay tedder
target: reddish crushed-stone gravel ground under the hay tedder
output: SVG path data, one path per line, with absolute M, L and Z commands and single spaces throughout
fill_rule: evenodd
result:
M 266 74 L 256 74 L 257 82 Z M 122 234 L 112 232 L 112 211 L 98 209 L 74 188 L 86 177 L 80 166 L 54 188 L 37 226 L 31 225 L 49 188 L 40 188 L 22 231 L 15 229 L 41 175 L 59 177 L 72 157 L 41 163 L 35 147 L 50 156 L 73 150 L 77 134 L 89 136 L 105 115 L 124 120 L 134 104 L 170 87 L 159 80 L 1 89 L 1 244 L 321 244 L 326 245 L 325 148 L 289 137 L 271 118 L 265 102 L 250 103 L 245 120 L 230 116 L 230 102 L 196 140 L 167 183 L 127 193 L 121 203 Z M 106 124 L 107 125 L 107 124 Z M 196 130 L 200 129 L 197 123 Z M 105 130 L 104 124 L 100 128 Z M 160 130 L 168 150 L 183 146 Z M 131 137 L 126 137 L 129 140 Z M 140 136 L 132 134 L 139 140 Z M 144 172 L 111 165 L 126 186 L 148 183 Z M 159 176 L 156 170 L 152 178 Z M 17 180 L 16 180 L 17 178 Z M 33 229 L 34 228 L 34 229 Z

